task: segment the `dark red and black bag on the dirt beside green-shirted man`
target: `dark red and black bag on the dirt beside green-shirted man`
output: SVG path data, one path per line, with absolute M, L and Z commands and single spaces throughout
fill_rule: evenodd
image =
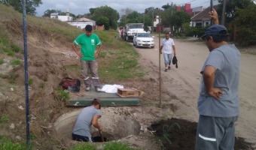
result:
M 72 79 L 70 77 L 65 77 L 62 79 L 59 86 L 62 86 L 63 89 L 67 89 L 70 92 L 80 92 L 81 82 L 78 79 Z

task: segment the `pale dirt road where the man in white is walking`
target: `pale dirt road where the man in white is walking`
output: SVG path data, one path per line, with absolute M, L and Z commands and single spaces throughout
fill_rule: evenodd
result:
M 158 71 L 158 37 L 155 37 L 155 49 L 139 48 L 145 63 L 151 64 L 151 71 Z M 175 117 L 197 121 L 197 98 L 200 87 L 200 69 L 203 66 L 209 50 L 205 43 L 184 42 L 175 40 L 178 68 L 172 65 L 171 71 L 164 72 L 163 55 L 161 55 L 162 92 L 169 92 L 176 98 L 170 98 L 172 104 L 178 107 Z M 236 122 L 236 136 L 244 137 L 248 142 L 256 141 L 256 74 L 255 55 L 241 55 L 241 71 L 239 81 L 240 115 Z M 152 69 L 153 68 L 153 69 Z M 151 74 L 149 71 L 148 74 Z M 152 76 L 156 74 L 152 73 Z

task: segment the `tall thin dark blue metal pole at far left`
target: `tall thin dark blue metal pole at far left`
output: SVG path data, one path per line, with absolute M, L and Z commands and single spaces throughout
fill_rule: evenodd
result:
M 29 147 L 29 75 L 28 58 L 26 44 L 26 0 L 23 0 L 23 40 L 24 40 L 24 68 L 25 68 L 25 88 L 26 88 L 26 145 Z M 29 148 L 28 148 L 29 149 Z

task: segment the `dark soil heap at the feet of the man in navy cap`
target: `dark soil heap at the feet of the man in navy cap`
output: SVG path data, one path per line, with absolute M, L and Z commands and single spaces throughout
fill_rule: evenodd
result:
M 151 124 L 149 130 L 156 130 L 163 143 L 164 149 L 187 150 L 194 149 L 197 134 L 197 122 L 186 121 L 178 118 L 161 120 Z M 236 137 L 235 150 L 252 150 L 251 143 L 243 138 Z

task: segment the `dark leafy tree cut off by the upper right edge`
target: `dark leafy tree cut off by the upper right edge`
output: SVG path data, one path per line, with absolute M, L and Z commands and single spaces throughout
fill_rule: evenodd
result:
M 244 45 L 256 43 L 256 5 L 249 5 L 245 9 L 236 10 L 236 18 L 233 24 L 237 27 L 237 34 L 242 40 Z

